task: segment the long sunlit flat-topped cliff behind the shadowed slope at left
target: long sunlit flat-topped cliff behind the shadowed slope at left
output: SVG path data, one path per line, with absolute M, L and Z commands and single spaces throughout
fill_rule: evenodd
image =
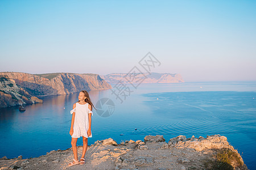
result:
M 34 96 L 67 95 L 81 90 L 100 90 L 112 88 L 98 74 L 27 74 L 15 72 L 2 72 L 14 79 L 18 86 L 24 88 Z

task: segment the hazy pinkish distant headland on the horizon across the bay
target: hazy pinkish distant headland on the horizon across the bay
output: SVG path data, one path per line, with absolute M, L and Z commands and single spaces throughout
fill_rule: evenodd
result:
M 125 78 L 127 74 L 125 73 L 112 73 L 108 75 L 101 75 L 101 78 L 105 79 L 108 83 L 129 83 L 129 80 L 132 83 L 183 83 L 184 80 L 180 74 L 170 74 L 170 73 L 139 73 L 133 76 L 133 74 L 128 75 L 127 79 Z M 131 76 L 129 78 L 129 76 Z

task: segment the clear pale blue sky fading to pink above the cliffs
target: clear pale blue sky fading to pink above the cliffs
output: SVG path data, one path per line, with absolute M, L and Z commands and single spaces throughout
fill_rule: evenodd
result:
M 0 1 L 0 71 L 256 80 L 256 1 Z M 142 71 L 143 72 L 143 71 Z

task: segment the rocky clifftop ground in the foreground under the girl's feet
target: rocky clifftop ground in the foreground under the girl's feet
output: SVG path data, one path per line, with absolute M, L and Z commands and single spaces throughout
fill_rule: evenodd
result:
M 240 154 L 224 136 L 186 138 L 180 135 L 168 143 L 165 141 L 163 135 L 147 135 L 144 142 L 130 140 L 117 144 L 112 138 L 96 141 L 86 150 L 85 164 L 73 167 L 68 167 L 73 159 L 72 148 L 30 159 L 5 156 L 0 166 L 1 169 L 247 169 Z M 77 152 L 80 158 L 82 146 Z

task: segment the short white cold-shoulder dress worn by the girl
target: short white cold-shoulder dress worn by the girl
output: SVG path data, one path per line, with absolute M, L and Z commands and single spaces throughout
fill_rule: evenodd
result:
M 89 129 L 89 113 L 92 113 L 92 116 L 93 116 L 93 112 L 90 111 L 90 109 L 88 108 L 88 105 L 89 103 L 86 103 L 86 104 L 76 103 L 76 107 L 70 111 L 71 114 L 73 112 L 76 113 L 75 122 L 73 125 L 74 132 L 73 132 L 73 135 L 71 136 L 72 138 L 80 138 L 82 136 L 88 138 L 87 131 Z M 92 138 L 92 131 L 89 138 Z

